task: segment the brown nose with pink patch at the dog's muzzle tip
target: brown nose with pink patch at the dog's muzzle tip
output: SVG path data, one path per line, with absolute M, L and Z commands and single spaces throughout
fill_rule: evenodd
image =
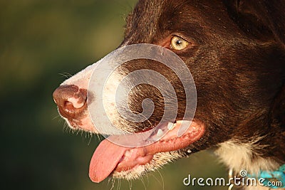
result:
M 73 119 L 86 110 L 87 90 L 76 85 L 61 85 L 53 92 L 53 100 L 63 117 Z

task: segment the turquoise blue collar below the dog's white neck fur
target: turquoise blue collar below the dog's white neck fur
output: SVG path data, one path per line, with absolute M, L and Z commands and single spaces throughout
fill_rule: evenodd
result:
M 275 171 L 259 171 L 259 174 L 257 175 L 248 175 L 249 177 L 254 177 L 257 179 L 264 179 L 262 182 L 264 186 L 268 186 L 271 189 L 278 189 L 278 188 L 285 188 L 285 164 L 279 167 L 279 169 Z M 280 181 L 279 185 L 276 184 L 274 186 L 271 181 Z M 275 183 L 274 183 L 275 184 Z M 281 186 L 280 186 L 281 185 Z

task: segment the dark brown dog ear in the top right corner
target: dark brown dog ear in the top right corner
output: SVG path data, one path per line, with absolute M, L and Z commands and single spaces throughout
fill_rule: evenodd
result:
M 285 46 L 284 0 L 223 0 L 229 16 L 248 35 Z

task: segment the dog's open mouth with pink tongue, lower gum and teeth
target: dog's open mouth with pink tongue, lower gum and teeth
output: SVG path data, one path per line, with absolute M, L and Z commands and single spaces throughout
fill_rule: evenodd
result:
M 150 163 L 157 153 L 172 152 L 189 146 L 204 134 L 204 124 L 202 122 L 193 120 L 189 123 L 190 126 L 187 131 L 180 137 L 178 137 L 177 133 L 182 120 L 174 124 L 165 123 L 154 134 L 161 138 L 144 147 L 123 147 L 110 142 L 108 139 L 103 140 L 95 150 L 90 161 L 90 179 L 98 183 L 114 172 L 130 171 Z M 162 130 L 167 130 L 163 136 Z

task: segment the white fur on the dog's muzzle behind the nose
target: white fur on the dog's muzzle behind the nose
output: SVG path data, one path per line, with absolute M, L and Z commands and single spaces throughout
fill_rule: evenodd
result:
M 97 104 L 98 102 L 100 105 L 103 104 L 102 110 L 98 110 L 98 108 L 93 105 L 91 105 L 91 102 L 88 98 L 88 108 L 90 111 L 90 115 L 93 114 L 93 112 L 100 112 L 105 113 L 106 117 L 96 117 L 95 121 L 91 121 L 90 116 L 88 115 L 88 112 L 86 112 L 86 115 L 81 121 L 78 121 L 78 123 L 82 123 L 83 120 L 86 120 L 84 122 L 84 125 L 78 125 L 78 127 L 83 128 L 83 130 L 88 130 L 90 132 L 96 132 L 96 133 L 103 133 L 103 134 L 121 134 L 122 132 L 115 130 L 112 125 L 110 125 L 110 122 L 112 122 L 113 125 L 117 126 L 118 123 L 118 110 L 116 109 L 116 97 L 117 100 L 120 100 L 123 97 L 126 97 L 125 95 L 125 89 L 120 88 L 118 89 L 118 85 L 120 84 L 120 81 L 122 80 L 123 76 L 120 75 L 120 73 L 113 72 L 113 65 L 105 64 L 103 61 L 106 62 L 106 60 L 101 59 L 97 63 L 93 63 L 92 65 L 89 65 L 87 68 L 81 70 L 76 75 L 73 75 L 73 77 L 68 78 L 65 80 L 61 85 L 76 85 L 78 88 L 86 89 L 88 90 L 88 93 L 94 97 L 93 102 L 95 101 Z M 98 68 L 98 65 L 100 64 L 100 70 L 96 70 Z M 96 72 L 95 72 L 96 70 Z M 95 73 L 94 73 L 95 72 Z M 106 78 L 106 76 L 108 76 Z M 91 88 L 90 88 L 90 82 L 92 81 Z M 94 84 L 95 83 L 95 84 Z M 97 88 L 100 87 L 100 88 Z M 103 88 L 102 88 L 103 87 Z M 102 92 L 103 91 L 103 92 Z M 103 95 L 102 95 L 103 93 Z M 89 95 L 89 94 L 88 94 Z M 118 98 L 119 97 L 119 98 Z M 97 99 L 96 99 L 97 98 Z M 125 100 L 126 101 L 126 100 Z M 73 101 L 76 102 L 76 101 Z M 76 105 L 78 107 L 78 105 Z M 94 120 L 94 117 L 92 118 Z M 74 127 L 71 125 L 71 122 L 69 122 L 67 119 L 68 125 L 71 127 Z M 96 124 L 96 125 L 95 125 Z M 94 126 L 95 128 L 94 128 Z

